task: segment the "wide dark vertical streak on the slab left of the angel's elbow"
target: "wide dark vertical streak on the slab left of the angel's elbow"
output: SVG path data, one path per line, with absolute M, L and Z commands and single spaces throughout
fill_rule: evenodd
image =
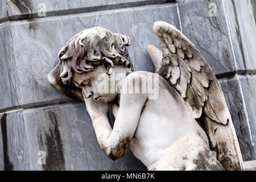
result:
M 48 113 L 51 122 L 54 124 L 53 129 L 49 129 L 49 133 L 38 133 L 38 142 L 40 150 L 46 151 L 46 164 L 43 164 L 44 171 L 64 171 L 65 159 L 63 144 L 59 131 L 59 124 L 53 111 Z

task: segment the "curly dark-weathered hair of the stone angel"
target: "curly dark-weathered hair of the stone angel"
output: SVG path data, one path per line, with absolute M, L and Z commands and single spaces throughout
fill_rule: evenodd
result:
M 114 65 L 122 65 L 133 71 L 126 46 L 130 39 L 121 34 L 112 33 L 106 28 L 93 27 L 73 36 L 66 46 L 60 49 L 61 80 L 66 84 L 77 73 L 92 72 L 102 64 L 110 74 Z

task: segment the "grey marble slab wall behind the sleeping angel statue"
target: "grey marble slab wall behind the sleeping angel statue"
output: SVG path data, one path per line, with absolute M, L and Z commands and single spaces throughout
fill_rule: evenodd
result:
M 53 89 L 47 74 L 59 49 L 93 26 L 129 36 L 135 71 L 154 72 L 146 46 L 160 48 L 152 31 L 157 20 L 179 28 L 205 56 L 224 91 L 243 160 L 256 159 L 256 45 L 250 1 L 6 2 L 0 0 L 0 170 L 146 169 L 130 150 L 115 162 L 108 159 L 84 104 Z M 216 16 L 209 15 L 210 3 L 216 5 Z M 38 13 L 43 6 L 45 16 Z M 46 165 L 38 164 L 39 151 L 46 151 Z

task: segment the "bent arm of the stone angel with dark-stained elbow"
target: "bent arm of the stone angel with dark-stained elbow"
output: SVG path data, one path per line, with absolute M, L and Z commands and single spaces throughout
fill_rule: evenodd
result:
M 112 160 L 125 155 L 146 100 L 147 94 L 121 93 L 120 106 L 112 129 L 107 116 L 108 104 L 85 99 L 98 143 Z

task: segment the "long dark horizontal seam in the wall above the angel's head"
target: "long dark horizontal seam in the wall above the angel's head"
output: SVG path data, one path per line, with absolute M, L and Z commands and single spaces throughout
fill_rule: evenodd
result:
M 61 16 L 61 15 L 70 15 L 70 14 L 79 14 L 79 13 L 90 13 L 96 11 L 104 11 L 104 10 L 115 10 L 115 9 L 123 9 L 129 7 L 138 7 L 138 6 L 148 6 L 148 5 L 161 5 L 164 3 L 175 3 L 176 0 L 166 0 L 166 1 L 139 1 L 139 2 L 127 2 L 127 3 L 119 3 L 114 5 L 102 5 L 102 6 L 92 6 L 92 7 L 81 7 L 75 9 L 67 9 L 67 10 L 57 10 L 57 11 L 48 11 L 46 12 L 47 16 Z M 8 7 L 7 7 L 8 8 Z M 24 20 L 24 19 L 33 19 L 33 18 L 45 18 L 37 15 L 38 13 L 30 13 L 30 14 L 20 14 L 20 15 L 7 15 L 11 21 L 15 20 Z M 22 17 L 25 16 L 25 17 Z

